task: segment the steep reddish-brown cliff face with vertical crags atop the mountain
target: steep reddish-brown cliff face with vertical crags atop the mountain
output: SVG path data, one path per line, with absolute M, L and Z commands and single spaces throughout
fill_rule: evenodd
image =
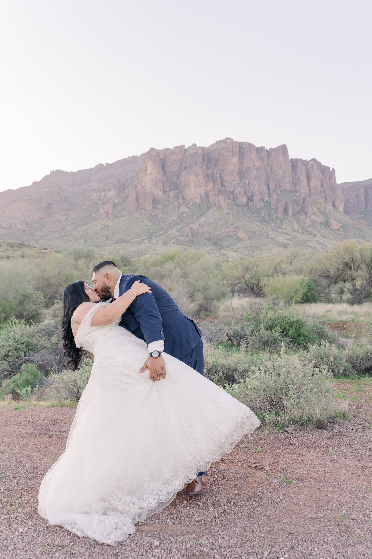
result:
M 227 208 L 227 201 L 238 206 L 260 207 L 270 202 L 277 207 L 283 190 L 296 192 L 298 205 L 306 215 L 325 208 L 342 211 L 344 196 L 337 186 L 335 171 L 315 159 L 289 160 L 287 146 L 256 148 L 247 142 L 226 138 L 204 148 L 195 144 L 185 149 L 151 148 L 143 166 L 128 210 L 151 210 L 165 191 L 175 191 L 180 202 L 200 203 L 208 196 L 211 206 Z

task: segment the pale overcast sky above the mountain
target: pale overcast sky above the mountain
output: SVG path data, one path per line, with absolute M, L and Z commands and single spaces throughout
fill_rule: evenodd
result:
M 230 136 L 372 177 L 370 0 L 1 0 L 0 190 Z

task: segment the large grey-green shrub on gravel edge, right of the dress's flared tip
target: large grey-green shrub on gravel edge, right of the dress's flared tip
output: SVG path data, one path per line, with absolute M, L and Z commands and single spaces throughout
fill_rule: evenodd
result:
M 289 425 L 317 425 L 344 410 L 332 397 L 327 367 L 317 369 L 297 355 L 265 357 L 250 375 L 226 390 L 249 406 L 271 429 Z

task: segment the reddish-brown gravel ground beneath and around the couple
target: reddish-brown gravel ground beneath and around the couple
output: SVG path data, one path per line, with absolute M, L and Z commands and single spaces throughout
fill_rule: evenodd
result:
M 37 513 L 42 477 L 64 451 L 74 408 L 0 406 L 0 557 L 6 559 L 331 558 L 372 551 L 372 384 L 335 383 L 349 423 L 245 437 L 165 510 L 110 547 Z

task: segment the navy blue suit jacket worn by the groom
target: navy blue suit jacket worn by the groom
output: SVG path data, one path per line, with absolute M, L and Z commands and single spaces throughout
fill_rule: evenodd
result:
M 146 283 L 152 293 L 143 293 L 134 299 L 123 313 L 120 326 L 145 340 L 147 345 L 163 340 L 164 351 L 182 359 L 200 342 L 201 331 L 193 320 L 178 309 L 165 289 L 145 276 L 123 274 L 119 296 L 128 291 L 136 280 Z

